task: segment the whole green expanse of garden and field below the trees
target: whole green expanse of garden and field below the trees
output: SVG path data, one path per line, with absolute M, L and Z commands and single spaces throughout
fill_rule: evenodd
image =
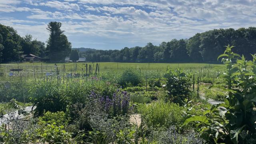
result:
M 230 47 L 220 57 L 223 64 L 2 64 L 1 122 L 12 111 L 25 117 L 2 123 L 0 142 L 254 143 L 256 57 Z

